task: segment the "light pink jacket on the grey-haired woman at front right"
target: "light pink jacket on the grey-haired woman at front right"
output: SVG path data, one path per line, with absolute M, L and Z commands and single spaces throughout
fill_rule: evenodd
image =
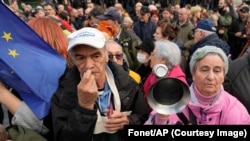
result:
M 183 110 L 183 113 L 189 119 L 189 107 L 195 115 L 198 125 L 250 124 L 250 116 L 243 104 L 224 90 L 222 90 L 214 104 L 212 104 L 210 107 L 207 107 L 206 109 L 203 109 L 199 105 L 193 103 L 192 97 L 194 97 L 194 94 L 191 93 L 191 100 L 188 106 Z M 155 111 L 151 112 L 149 119 L 145 122 L 145 125 L 153 124 L 152 119 L 155 117 L 155 114 Z M 156 119 L 156 121 L 160 120 Z M 168 121 L 161 121 L 161 123 L 155 124 L 167 123 L 173 125 L 178 122 L 182 121 L 176 114 L 173 114 L 169 115 Z

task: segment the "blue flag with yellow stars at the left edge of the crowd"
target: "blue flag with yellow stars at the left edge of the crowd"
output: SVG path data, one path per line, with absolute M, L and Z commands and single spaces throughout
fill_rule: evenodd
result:
M 66 60 L 0 2 L 0 81 L 43 119 Z M 1 96 L 1 94 L 0 94 Z

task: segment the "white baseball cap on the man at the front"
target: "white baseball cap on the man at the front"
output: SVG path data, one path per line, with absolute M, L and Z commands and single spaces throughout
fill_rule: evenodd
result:
M 106 42 L 104 34 L 96 28 L 84 27 L 68 36 L 68 51 L 76 45 L 88 45 L 94 48 L 103 48 Z

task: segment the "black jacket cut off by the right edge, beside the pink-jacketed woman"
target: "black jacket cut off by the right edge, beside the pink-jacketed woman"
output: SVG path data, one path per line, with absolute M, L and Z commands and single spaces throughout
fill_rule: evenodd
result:
M 250 54 L 233 60 L 224 81 L 224 89 L 238 98 L 250 113 Z

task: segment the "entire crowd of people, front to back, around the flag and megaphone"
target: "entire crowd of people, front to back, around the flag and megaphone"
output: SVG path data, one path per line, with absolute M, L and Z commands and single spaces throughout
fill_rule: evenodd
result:
M 181 109 L 188 124 L 249 125 L 249 6 L 233 0 L 166 2 L 138 0 L 130 11 L 119 1 L 108 7 L 7 5 L 67 68 L 44 119 L 0 82 L 0 141 L 15 141 L 8 133 L 14 125 L 47 141 L 122 141 L 125 125 L 185 125 L 178 113 L 149 104 L 151 88 L 160 82 L 154 72 L 159 64 L 167 68 L 163 78 L 189 89 Z M 163 93 L 179 91 L 168 89 Z

